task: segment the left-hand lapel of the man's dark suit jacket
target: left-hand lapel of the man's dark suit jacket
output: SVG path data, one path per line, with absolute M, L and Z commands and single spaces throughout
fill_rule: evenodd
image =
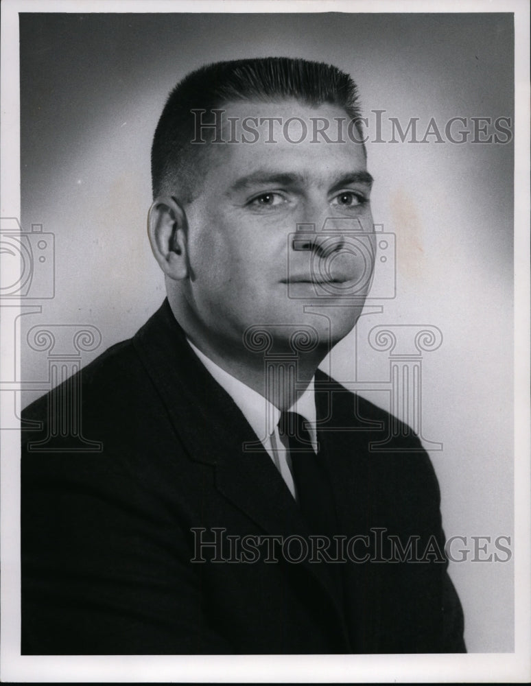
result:
M 244 449 L 248 442 L 256 444 L 256 434 L 187 344 L 167 300 L 134 337 L 134 346 L 189 457 L 215 469 L 217 490 L 266 534 L 284 539 L 309 536 L 298 505 L 266 450 Z M 342 608 L 327 569 L 309 560 L 300 566 L 327 594 L 348 652 Z

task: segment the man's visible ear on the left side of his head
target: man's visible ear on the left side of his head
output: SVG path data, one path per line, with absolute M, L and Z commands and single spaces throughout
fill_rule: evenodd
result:
M 189 274 L 187 220 L 180 204 L 169 196 L 154 200 L 147 215 L 151 249 L 161 270 L 174 281 Z

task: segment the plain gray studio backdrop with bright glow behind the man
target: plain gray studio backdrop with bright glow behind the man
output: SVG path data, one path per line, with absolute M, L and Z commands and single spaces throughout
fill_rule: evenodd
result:
M 447 538 L 460 536 L 450 569 L 467 646 L 512 651 L 512 15 L 21 14 L 20 26 L 21 223 L 28 232 L 35 225 L 28 240 L 36 252 L 38 233 L 46 234 L 43 250 L 53 250 L 34 267 L 49 297 L 27 293 L 40 312 L 28 308 L 17 322 L 29 382 L 22 404 L 56 378 L 53 351 L 34 327 L 67 337 L 89 327 L 92 343 L 62 343 L 69 373 L 69 354 L 90 362 L 163 300 L 145 217 L 150 143 L 170 88 L 215 60 L 300 56 L 338 65 L 357 81 L 368 117 L 373 215 L 387 234 L 383 249 L 396 247 L 395 260 L 379 261 L 379 278 L 385 291 L 396 275 L 397 291 L 368 303 L 357 333 L 324 366 L 390 407 L 390 368 L 400 375 L 405 364 L 399 348 L 421 363 L 422 436 Z M 425 143 L 411 142 L 411 130 L 401 142 L 396 125 L 392 142 L 392 118 L 405 130 L 413 117 Z M 432 124 L 425 137 L 432 117 L 440 136 Z M 464 121 L 454 121 L 450 137 L 469 130 L 464 143 L 445 132 L 453 117 Z M 50 265 L 54 273 L 45 272 Z M 394 353 L 375 327 L 397 337 Z M 419 350 L 421 330 L 429 334 Z M 399 405 L 407 419 L 408 402 Z

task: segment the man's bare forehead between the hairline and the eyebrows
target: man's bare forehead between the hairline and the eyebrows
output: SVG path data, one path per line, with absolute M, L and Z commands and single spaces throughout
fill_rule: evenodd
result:
M 231 192 L 261 183 L 333 187 L 346 177 L 372 182 L 364 146 L 346 135 L 351 119 L 339 106 L 243 100 L 220 106 L 215 117 L 216 128 L 209 119 L 211 128 L 204 129 L 209 185 L 213 175 L 215 185 Z

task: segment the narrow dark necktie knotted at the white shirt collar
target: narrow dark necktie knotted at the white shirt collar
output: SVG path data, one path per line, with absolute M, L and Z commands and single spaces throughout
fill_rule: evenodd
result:
M 311 447 L 305 419 L 296 412 L 282 412 L 281 436 L 287 436 L 297 499 L 310 534 L 337 534 L 337 519 L 330 478 L 322 454 Z

